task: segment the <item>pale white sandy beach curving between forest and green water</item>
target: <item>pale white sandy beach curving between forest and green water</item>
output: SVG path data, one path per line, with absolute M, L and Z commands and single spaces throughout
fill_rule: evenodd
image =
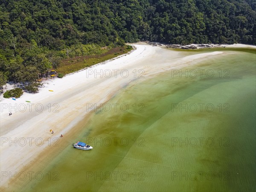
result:
M 39 93 L 24 93 L 16 101 L 3 99 L 1 95 L 1 172 L 13 175 L 23 170 L 49 147 L 49 140 L 54 142 L 60 134 L 69 134 L 94 110 L 93 105 L 99 107 L 127 84 L 136 84 L 166 70 L 180 69 L 193 61 L 224 54 L 216 51 L 184 57 L 180 52 L 161 47 L 134 46 L 137 49 L 131 54 L 104 65 L 95 65 L 63 79 L 49 80 Z M 12 116 L 8 116 L 9 111 Z M 50 129 L 54 134 L 50 134 Z M 5 190 L 8 183 L 9 175 L 1 175 L 1 190 Z

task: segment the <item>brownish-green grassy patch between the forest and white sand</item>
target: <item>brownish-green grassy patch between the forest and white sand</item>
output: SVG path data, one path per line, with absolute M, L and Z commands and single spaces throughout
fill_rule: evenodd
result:
M 101 55 L 76 56 L 74 58 L 64 59 L 61 61 L 61 64 L 58 67 L 57 72 L 62 73 L 64 75 L 68 73 L 73 73 L 86 67 L 90 67 L 92 65 L 125 54 L 129 52 L 132 49 L 132 47 L 115 47 L 109 50 L 106 47 L 104 47 L 103 49 L 105 49 L 105 52 Z

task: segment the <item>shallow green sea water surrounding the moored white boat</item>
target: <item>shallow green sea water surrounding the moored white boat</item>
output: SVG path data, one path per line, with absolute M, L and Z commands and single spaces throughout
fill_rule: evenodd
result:
M 18 190 L 255 191 L 255 50 L 215 50 L 124 87 Z

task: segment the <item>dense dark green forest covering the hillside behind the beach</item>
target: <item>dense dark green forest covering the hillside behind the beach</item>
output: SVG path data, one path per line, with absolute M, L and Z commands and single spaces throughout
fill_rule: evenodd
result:
M 32 90 L 61 59 L 101 54 L 104 46 L 256 44 L 256 2 L 1 0 L 0 24 L 0 87 L 15 81 Z

